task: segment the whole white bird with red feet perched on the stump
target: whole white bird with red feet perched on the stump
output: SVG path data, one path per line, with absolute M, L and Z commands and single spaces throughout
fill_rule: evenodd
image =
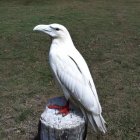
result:
M 39 24 L 33 31 L 40 31 L 52 39 L 49 51 L 49 63 L 67 100 L 65 106 L 50 105 L 59 113 L 69 113 L 69 102 L 80 108 L 95 132 L 106 133 L 106 122 L 96 87 L 88 65 L 76 49 L 67 28 L 58 23 Z

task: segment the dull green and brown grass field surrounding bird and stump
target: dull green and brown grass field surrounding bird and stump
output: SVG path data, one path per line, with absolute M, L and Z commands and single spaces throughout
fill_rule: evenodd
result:
M 108 124 L 100 139 L 139 139 L 139 14 L 139 0 L 1 0 L 0 139 L 34 138 L 47 99 L 58 96 L 50 39 L 32 31 L 54 22 L 69 29 L 94 77 Z

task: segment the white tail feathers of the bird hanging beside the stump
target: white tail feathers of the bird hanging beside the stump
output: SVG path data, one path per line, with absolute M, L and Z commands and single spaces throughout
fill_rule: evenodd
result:
M 94 115 L 92 113 L 88 113 L 87 117 L 95 132 L 101 131 L 105 133 L 107 131 L 105 126 L 106 122 L 101 114 Z

